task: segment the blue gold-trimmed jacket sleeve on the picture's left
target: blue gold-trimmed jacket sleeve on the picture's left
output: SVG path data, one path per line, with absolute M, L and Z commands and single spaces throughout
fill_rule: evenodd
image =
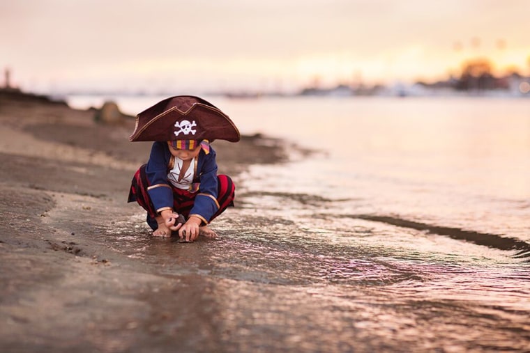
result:
M 147 193 L 157 213 L 163 210 L 173 210 L 173 191 L 167 181 L 168 162 L 167 145 L 163 142 L 153 143 L 145 171 L 147 180 L 149 180 Z

